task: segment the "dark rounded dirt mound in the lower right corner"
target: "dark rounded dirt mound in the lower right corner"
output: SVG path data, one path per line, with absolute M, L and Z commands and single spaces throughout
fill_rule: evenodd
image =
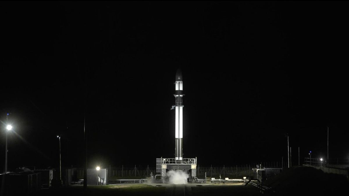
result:
M 305 166 L 284 169 L 263 183 L 272 187 L 277 195 L 334 195 L 346 193 L 349 187 L 348 178 L 344 175 L 324 173 L 320 169 Z

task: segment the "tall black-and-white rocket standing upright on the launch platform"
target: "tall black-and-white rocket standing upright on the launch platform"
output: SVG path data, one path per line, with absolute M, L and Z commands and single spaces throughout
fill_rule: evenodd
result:
M 182 160 L 183 158 L 183 77 L 180 69 L 176 72 L 176 125 L 175 125 L 175 137 L 176 137 L 176 149 L 175 158 L 176 160 Z

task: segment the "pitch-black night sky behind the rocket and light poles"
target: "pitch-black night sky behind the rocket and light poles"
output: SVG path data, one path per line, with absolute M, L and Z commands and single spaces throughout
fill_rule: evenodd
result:
M 348 2 L 1 2 L 9 168 L 348 158 Z M 5 125 L 0 159 L 5 159 Z

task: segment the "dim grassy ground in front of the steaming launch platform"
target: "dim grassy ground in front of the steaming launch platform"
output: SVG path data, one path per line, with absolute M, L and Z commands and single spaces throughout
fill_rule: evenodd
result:
M 260 195 L 259 190 L 253 186 L 239 185 L 223 185 L 210 184 L 165 184 L 161 186 L 152 186 L 150 184 L 129 184 L 129 185 L 106 185 L 106 186 L 88 186 L 87 192 L 84 193 L 82 186 L 61 187 L 59 189 L 41 190 L 39 196 L 70 196 L 70 195 L 127 195 L 127 196 L 209 196 L 209 195 Z M 264 194 L 268 195 L 268 194 Z

